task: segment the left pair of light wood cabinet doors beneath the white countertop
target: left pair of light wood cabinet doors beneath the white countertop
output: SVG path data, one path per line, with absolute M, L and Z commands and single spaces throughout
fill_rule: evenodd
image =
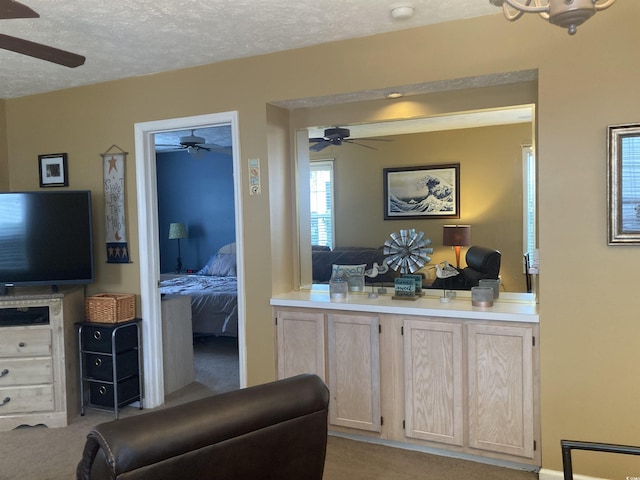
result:
M 315 373 L 331 392 L 329 423 L 380 432 L 378 317 L 276 309 L 278 378 Z

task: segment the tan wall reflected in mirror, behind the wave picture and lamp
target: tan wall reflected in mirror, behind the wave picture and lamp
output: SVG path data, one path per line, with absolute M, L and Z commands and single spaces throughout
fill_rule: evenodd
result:
M 470 224 L 471 244 L 502 252 L 500 274 L 505 291 L 524 292 L 522 275 L 522 150 L 531 144 L 532 125 L 521 123 L 442 132 L 395 135 L 388 142 L 345 143 L 313 153 L 334 163 L 336 246 L 380 247 L 391 232 L 415 228 L 434 249 L 431 265 L 455 262 L 442 245 L 442 226 Z M 460 219 L 385 220 L 383 169 L 460 164 Z M 461 252 L 460 264 L 465 266 Z M 432 267 L 425 274 L 434 276 Z

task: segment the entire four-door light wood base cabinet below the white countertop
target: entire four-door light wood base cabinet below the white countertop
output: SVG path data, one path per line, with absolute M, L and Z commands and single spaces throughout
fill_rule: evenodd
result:
M 279 377 L 325 379 L 330 430 L 540 464 L 537 323 L 275 311 Z

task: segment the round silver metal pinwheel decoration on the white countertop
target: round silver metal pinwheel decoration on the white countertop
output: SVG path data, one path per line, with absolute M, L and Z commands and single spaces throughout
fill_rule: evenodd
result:
M 389 235 L 384 242 L 385 263 L 400 273 L 413 273 L 420 270 L 431 261 L 429 253 L 433 248 L 427 247 L 431 240 L 424 236 L 424 232 L 415 229 L 400 230 Z

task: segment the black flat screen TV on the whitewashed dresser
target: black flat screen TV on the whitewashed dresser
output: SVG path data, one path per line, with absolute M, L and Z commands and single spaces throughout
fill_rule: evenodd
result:
M 91 283 L 90 191 L 0 193 L 0 288 Z

